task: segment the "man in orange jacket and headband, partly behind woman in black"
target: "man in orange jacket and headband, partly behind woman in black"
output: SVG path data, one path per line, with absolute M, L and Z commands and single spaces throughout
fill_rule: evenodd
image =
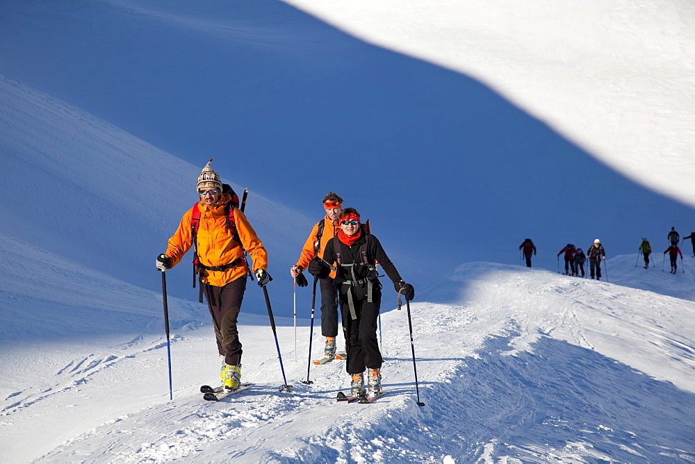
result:
M 338 213 L 343 208 L 343 197 L 334 192 L 328 192 L 323 198 L 323 209 L 326 215 L 317 222 L 309 238 L 304 243 L 302 254 L 297 264 L 290 269 L 290 275 L 297 278 L 301 287 L 306 286 L 306 277 L 302 271 L 306 269 L 314 256 L 322 257 L 328 240 L 336 235 Z M 336 272 L 333 271 L 325 279 L 319 279 L 321 285 L 321 335 L 326 338 L 324 354 L 327 358 L 336 356 L 336 336 L 338 335 L 338 300 L 336 297 Z

